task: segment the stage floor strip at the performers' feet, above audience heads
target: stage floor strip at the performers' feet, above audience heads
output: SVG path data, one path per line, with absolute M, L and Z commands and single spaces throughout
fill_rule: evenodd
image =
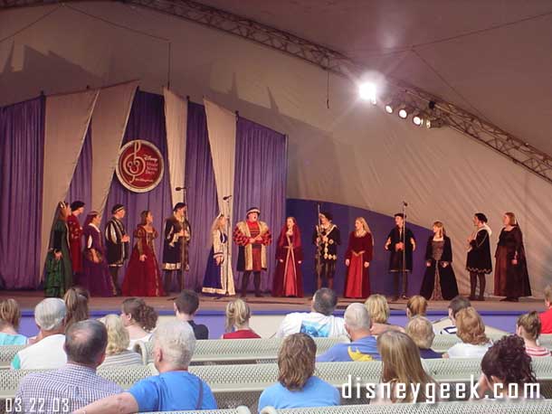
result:
M 148 305 L 155 307 L 158 311 L 172 311 L 173 301 L 171 297 L 146 297 Z M 0 291 L 0 297 L 13 297 L 22 310 L 33 310 L 43 299 L 42 291 L 29 291 L 29 290 L 3 290 Z M 200 314 L 205 311 L 224 311 L 226 304 L 233 300 L 236 296 L 227 296 L 221 298 L 215 298 L 213 296 L 200 296 L 201 306 Z M 119 297 L 92 297 L 90 299 L 90 310 L 93 311 L 115 311 L 119 310 L 120 304 L 124 299 L 124 296 Z M 252 294 L 247 298 L 247 303 L 251 306 L 252 311 L 268 311 L 268 312 L 290 312 L 290 311 L 306 311 L 309 309 L 311 296 L 302 298 L 297 297 L 254 297 Z M 388 298 L 389 300 L 389 298 Z M 347 305 L 353 302 L 357 302 L 355 299 L 346 299 L 339 297 L 338 309 L 345 310 Z M 449 301 L 432 301 L 429 303 L 429 314 L 447 312 L 447 306 Z M 489 297 L 484 302 L 472 302 L 474 306 L 481 313 L 486 312 L 513 312 L 516 314 L 530 312 L 537 310 L 541 312 L 544 310 L 544 301 L 542 299 L 534 298 L 521 298 L 518 303 L 512 302 L 500 302 L 500 297 Z M 399 300 L 397 302 L 390 302 L 389 306 L 392 311 L 403 311 L 406 306 L 406 300 Z

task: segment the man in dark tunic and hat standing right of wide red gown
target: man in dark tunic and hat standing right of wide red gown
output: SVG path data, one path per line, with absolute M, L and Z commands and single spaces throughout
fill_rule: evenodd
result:
M 186 204 L 176 202 L 173 215 L 165 221 L 163 239 L 163 269 L 165 270 L 165 294 L 171 292 L 173 274 L 176 272 L 178 292 L 184 289 L 184 271 L 189 270 L 188 247 L 192 229 L 186 220 Z

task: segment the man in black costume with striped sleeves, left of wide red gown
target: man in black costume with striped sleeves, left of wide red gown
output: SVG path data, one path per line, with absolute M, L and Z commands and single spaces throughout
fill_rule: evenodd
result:
M 113 286 L 120 295 L 119 268 L 122 268 L 128 259 L 128 237 L 125 225 L 121 221 L 126 214 L 125 206 L 115 204 L 111 209 L 111 218 L 105 228 L 106 250 L 108 254 L 109 274 L 113 279 Z

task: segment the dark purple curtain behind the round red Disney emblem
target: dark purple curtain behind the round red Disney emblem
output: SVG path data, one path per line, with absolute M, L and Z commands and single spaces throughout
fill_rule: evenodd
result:
M 163 260 L 163 230 L 164 221 L 172 214 L 171 194 L 167 163 L 167 133 L 165 130 L 165 109 L 163 97 L 153 93 L 139 91 L 136 93 L 127 130 L 123 138 L 123 145 L 134 139 L 144 139 L 153 143 L 165 161 L 165 172 L 161 183 L 148 193 L 132 193 L 119 183 L 116 174 L 113 174 L 108 202 L 103 213 L 103 225 L 111 215 L 111 207 L 121 203 L 126 207 L 127 215 L 123 219 L 130 236 L 130 250 L 134 246 L 134 230 L 140 222 L 140 212 L 150 210 L 154 217 L 154 227 L 159 232 L 156 242 L 156 253 L 159 267 Z M 128 264 L 128 262 L 127 262 Z M 126 266 L 119 272 L 119 283 L 122 283 Z

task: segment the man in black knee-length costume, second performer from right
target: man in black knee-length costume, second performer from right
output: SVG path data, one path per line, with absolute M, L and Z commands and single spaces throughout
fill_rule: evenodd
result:
M 490 260 L 490 236 L 492 231 L 487 225 L 487 216 L 476 212 L 473 216 L 474 231 L 468 239 L 468 258 L 466 270 L 470 272 L 470 300 L 485 300 L 485 275 L 492 272 Z M 477 280 L 480 281 L 480 295 L 475 296 Z

